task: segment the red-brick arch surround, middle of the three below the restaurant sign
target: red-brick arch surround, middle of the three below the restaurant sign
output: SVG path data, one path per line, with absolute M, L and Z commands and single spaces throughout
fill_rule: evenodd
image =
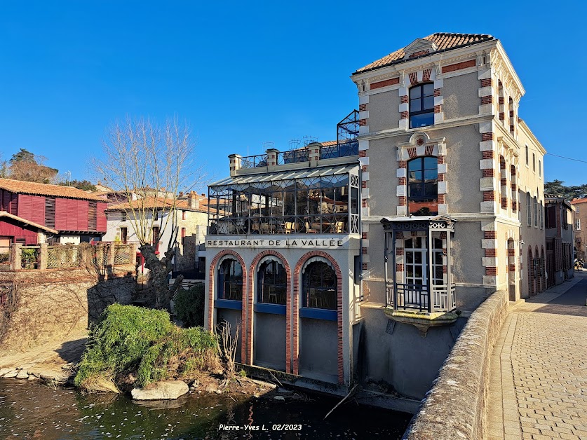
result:
M 285 268 L 285 275 L 287 277 L 287 283 L 286 283 L 286 287 L 285 287 L 285 336 L 287 337 L 286 341 L 285 341 L 285 372 L 286 373 L 291 373 L 291 343 L 290 343 L 290 329 L 291 329 L 291 296 L 292 296 L 292 290 L 291 290 L 291 279 L 292 279 L 292 270 L 290 268 L 290 264 L 288 263 L 288 260 L 285 259 L 285 256 L 283 256 L 283 254 L 280 254 L 277 251 L 274 251 L 273 249 L 268 249 L 265 250 L 263 252 L 259 252 L 259 254 L 255 255 L 255 258 L 252 259 L 252 263 L 249 266 L 249 273 L 250 273 L 250 277 L 249 277 L 249 292 L 250 295 L 248 297 L 248 316 L 247 316 L 247 336 L 246 336 L 246 341 L 247 341 L 247 350 L 246 350 L 246 358 L 243 357 L 243 359 L 246 359 L 247 364 L 252 365 L 252 306 L 254 303 L 254 298 L 253 298 L 253 294 L 255 292 L 255 286 L 254 286 L 254 282 L 255 282 L 255 268 L 257 268 L 257 264 L 259 264 L 259 261 L 261 261 L 264 257 L 271 255 L 271 256 L 276 256 L 278 259 L 281 260 L 281 263 L 283 264 L 283 267 Z

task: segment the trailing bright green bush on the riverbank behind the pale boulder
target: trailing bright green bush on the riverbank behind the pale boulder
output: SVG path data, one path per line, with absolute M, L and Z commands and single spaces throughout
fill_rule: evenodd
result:
M 217 367 L 215 336 L 204 329 L 179 329 L 168 312 L 113 304 L 90 329 L 74 383 L 93 384 L 137 375 L 137 385 Z

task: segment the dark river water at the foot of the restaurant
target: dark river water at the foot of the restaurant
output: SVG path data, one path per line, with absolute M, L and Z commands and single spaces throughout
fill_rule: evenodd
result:
M 323 420 L 339 399 L 309 397 L 311 401 L 243 396 L 234 401 L 224 394 L 195 394 L 137 404 L 123 395 L 83 395 L 0 379 L 0 438 L 399 439 L 411 417 L 350 402 Z

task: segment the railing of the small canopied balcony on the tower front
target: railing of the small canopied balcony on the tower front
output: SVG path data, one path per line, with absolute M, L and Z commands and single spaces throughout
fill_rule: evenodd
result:
M 424 284 L 386 283 L 387 304 L 396 310 L 417 310 L 419 312 L 451 312 L 457 308 L 454 284 L 432 285 L 431 294 Z M 432 303 L 430 303 L 432 295 Z

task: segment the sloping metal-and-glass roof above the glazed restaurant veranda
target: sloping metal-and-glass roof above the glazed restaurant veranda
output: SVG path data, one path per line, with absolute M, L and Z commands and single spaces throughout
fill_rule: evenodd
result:
M 332 167 L 304 168 L 302 170 L 284 170 L 277 172 L 266 172 L 259 174 L 243 174 L 241 176 L 227 177 L 209 186 L 232 186 L 253 184 L 258 182 L 269 182 L 292 179 L 313 179 L 316 177 L 332 176 L 337 174 L 349 174 L 358 172 L 358 165 L 337 165 Z

